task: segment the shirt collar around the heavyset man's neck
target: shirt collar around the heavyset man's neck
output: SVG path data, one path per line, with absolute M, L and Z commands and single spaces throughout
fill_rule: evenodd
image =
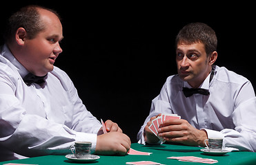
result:
M 1 51 L 1 55 L 10 61 L 14 67 L 17 68 L 17 71 L 21 75 L 21 78 L 25 77 L 29 72 L 28 70 L 19 63 L 19 61 L 13 56 L 12 52 L 10 52 L 8 46 L 5 44 L 3 45 L 3 49 Z

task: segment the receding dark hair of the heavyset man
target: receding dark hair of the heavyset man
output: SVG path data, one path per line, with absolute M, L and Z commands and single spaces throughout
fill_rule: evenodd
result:
M 3 34 L 3 38 L 6 43 L 12 42 L 14 35 L 19 28 L 24 28 L 28 34 L 28 39 L 34 39 L 35 36 L 45 29 L 40 14 L 37 9 L 44 9 L 53 12 L 60 19 L 59 14 L 54 10 L 44 8 L 39 5 L 28 5 L 15 12 L 8 19 L 6 25 L 6 32 Z

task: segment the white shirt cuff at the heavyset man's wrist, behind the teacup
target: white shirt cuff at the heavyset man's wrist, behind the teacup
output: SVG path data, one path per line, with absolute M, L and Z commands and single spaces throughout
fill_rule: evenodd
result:
M 95 152 L 96 144 L 97 144 L 97 134 L 94 133 L 82 133 L 77 132 L 75 137 L 75 141 L 79 142 L 92 142 L 91 153 Z

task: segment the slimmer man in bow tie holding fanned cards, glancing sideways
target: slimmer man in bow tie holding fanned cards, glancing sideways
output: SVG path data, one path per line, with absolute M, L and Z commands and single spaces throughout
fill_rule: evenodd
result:
M 160 113 L 176 113 L 166 120 L 159 137 L 167 142 L 205 146 L 209 137 L 224 138 L 224 147 L 256 151 L 256 98 L 250 81 L 217 59 L 217 37 L 204 23 L 190 23 L 176 38 L 177 75 L 167 78 L 138 133 L 140 143 L 159 143 L 148 126 Z M 203 92 L 201 92 L 203 91 Z

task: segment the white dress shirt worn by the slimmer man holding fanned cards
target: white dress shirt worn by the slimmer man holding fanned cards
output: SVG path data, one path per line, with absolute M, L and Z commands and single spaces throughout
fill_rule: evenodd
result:
M 194 94 L 186 98 L 182 87 L 191 88 L 178 75 L 169 76 L 159 96 L 152 100 L 150 114 L 137 135 L 144 144 L 144 127 L 152 116 L 176 113 L 196 129 L 206 130 L 208 137 L 224 137 L 224 147 L 256 151 L 256 98 L 250 81 L 225 67 L 213 66 L 200 85 L 210 95 Z

